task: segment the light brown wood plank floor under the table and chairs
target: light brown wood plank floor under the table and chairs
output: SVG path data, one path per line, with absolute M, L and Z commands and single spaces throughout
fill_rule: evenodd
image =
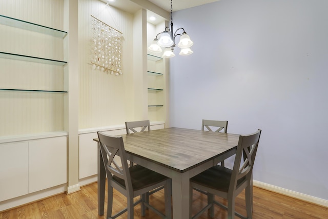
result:
M 126 198 L 114 190 L 114 212 L 126 206 Z M 107 194 L 106 194 L 107 200 Z M 253 218 L 328 218 L 328 208 L 318 205 L 302 202 L 291 197 L 283 196 L 281 194 L 273 193 L 254 187 L 254 212 Z M 193 195 L 193 214 L 197 212 L 202 206 L 206 205 L 207 197 L 199 192 L 194 191 Z M 218 201 L 220 201 L 218 199 Z M 221 200 L 223 201 L 223 200 Z M 164 212 L 163 192 L 159 191 L 152 195 L 150 202 L 157 206 Z M 224 202 L 224 201 L 223 201 Z M 106 202 L 107 204 L 107 202 Z M 105 215 L 106 215 L 105 205 Z M 245 214 L 244 194 L 241 193 L 237 197 L 236 210 Z M 127 213 L 118 218 L 126 218 Z M 0 212 L 2 219 L 17 219 L 17 218 L 106 218 L 99 216 L 97 210 L 97 183 L 93 183 L 84 187 L 81 190 L 72 194 L 59 194 L 53 197 L 46 198 L 45 200 L 20 206 L 8 211 Z M 134 218 L 143 219 L 157 219 L 160 218 L 152 211 L 147 210 L 147 215 L 141 217 L 140 205 L 134 208 Z M 200 219 L 208 219 L 210 216 L 204 212 Z M 226 211 L 215 207 L 215 219 L 227 218 Z M 237 217 L 236 217 L 237 218 Z M 178 219 L 178 218 L 175 218 Z

